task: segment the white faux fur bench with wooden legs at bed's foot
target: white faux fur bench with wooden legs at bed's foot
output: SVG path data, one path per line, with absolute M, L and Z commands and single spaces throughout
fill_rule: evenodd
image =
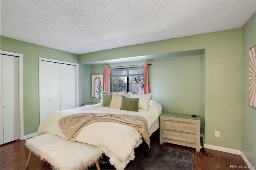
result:
M 42 134 L 27 139 L 26 148 L 30 150 L 26 168 L 32 152 L 51 164 L 54 169 L 84 169 L 96 164 L 100 169 L 98 160 L 102 150 L 97 146 L 73 142 L 52 134 Z

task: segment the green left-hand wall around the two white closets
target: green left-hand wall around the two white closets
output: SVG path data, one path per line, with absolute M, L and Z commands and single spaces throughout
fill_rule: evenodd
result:
M 3 36 L 1 50 L 23 54 L 24 135 L 35 133 L 39 126 L 39 57 L 78 63 L 78 55 Z M 80 64 L 80 75 L 88 71 L 88 67 Z M 83 81 L 84 79 L 81 79 L 79 83 Z M 84 95 L 84 89 L 79 89 L 79 93 Z M 84 99 L 81 96 L 79 95 L 79 105 Z

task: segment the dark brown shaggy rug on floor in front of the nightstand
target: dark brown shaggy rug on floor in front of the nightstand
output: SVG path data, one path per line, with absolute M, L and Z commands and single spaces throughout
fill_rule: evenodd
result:
M 150 148 L 144 149 L 129 169 L 192 170 L 193 162 L 192 152 L 150 144 Z

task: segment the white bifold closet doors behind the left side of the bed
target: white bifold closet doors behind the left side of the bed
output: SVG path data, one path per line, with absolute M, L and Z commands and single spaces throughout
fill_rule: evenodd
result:
M 40 121 L 52 112 L 76 107 L 76 65 L 40 59 Z M 61 62 L 61 61 L 60 61 Z

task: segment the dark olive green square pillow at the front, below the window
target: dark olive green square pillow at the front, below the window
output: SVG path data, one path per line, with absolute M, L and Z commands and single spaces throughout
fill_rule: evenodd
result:
M 120 110 L 126 110 L 126 111 L 138 111 L 138 103 L 139 98 L 130 98 L 122 96 L 122 104 Z

